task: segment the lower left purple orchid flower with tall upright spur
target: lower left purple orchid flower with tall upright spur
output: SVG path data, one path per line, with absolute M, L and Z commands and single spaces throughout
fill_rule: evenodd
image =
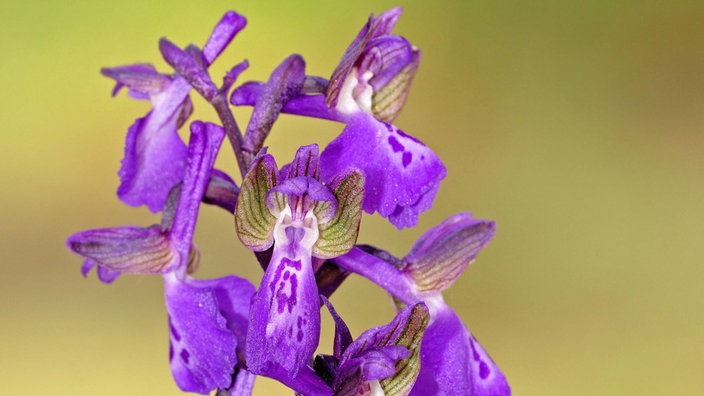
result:
M 183 183 L 170 194 L 161 225 L 89 230 L 67 240 L 72 252 L 86 258 L 84 271 L 97 265 L 101 280 L 118 273 L 162 275 L 171 371 L 182 390 L 201 394 L 233 385 L 255 292 L 251 283 L 236 276 L 189 276 L 199 261 L 192 242 L 198 210 L 224 136 L 217 125 L 191 124 Z M 240 384 L 249 383 L 251 392 L 252 381 L 244 380 L 248 376 L 238 368 L 235 383 L 238 378 Z

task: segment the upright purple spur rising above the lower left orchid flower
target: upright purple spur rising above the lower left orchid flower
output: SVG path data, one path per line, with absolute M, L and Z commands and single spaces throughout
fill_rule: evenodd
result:
M 225 130 L 218 125 L 200 121 L 191 124 L 188 168 L 171 228 L 171 241 L 181 256 L 187 256 L 191 248 L 200 202 L 224 137 Z

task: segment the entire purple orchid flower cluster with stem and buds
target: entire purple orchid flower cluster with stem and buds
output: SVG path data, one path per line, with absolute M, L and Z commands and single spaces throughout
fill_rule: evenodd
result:
M 392 122 L 400 112 L 420 52 L 391 34 L 401 10 L 370 17 L 329 79 L 308 76 L 299 55 L 266 82 L 235 86 L 246 61 L 221 84 L 208 69 L 246 25 L 226 13 L 199 48 L 161 39 L 172 74 L 149 64 L 105 68 L 152 108 L 127 131 L 118 197 L 161 212 L 160 224 L 79 232 L 68 248 L 105 283 L 121 274 L 159 274 L 169 328 L 169 361 L 184 391 L 251 394 L 256 376 L 302 395 L 509 395 L 501 371 L 444 302 L 442 291 L 493 238 L 495 224 L 469 213 L 451 216 L 397 258 L 357 245 L 362 211 L 412 227 L 445 177 L 440 159 Z M 220 125 L 193 121 L 195 91 Z M 230 106 L 252 106 L 244 134 Z M 344 124 L 322 151 L 302 146 L 278 166 L 264 146 L 281 113 Z M 239 185 L 213 167 L 227 137 Z M 234 219 L 234 232 L 264 269 L 259 287 L 235 275 L 202 280 L 193 233 L 201 203 Z M 254 261 L 254 260 L 253 260 Z M 356 339 L 330 296 L 350 274 L 386 290 L 396 316 Z M 321 308 L 335 323 L 332 354 L 315 355 Z

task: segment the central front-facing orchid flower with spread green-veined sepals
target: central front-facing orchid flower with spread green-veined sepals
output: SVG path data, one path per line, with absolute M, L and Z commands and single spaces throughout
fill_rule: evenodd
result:
M 250 311 L 247 365 L 283 383 L 295 381 L 318 345 L 314 257 L 337 257 L 357 239 L 362 175 L 352 171 L 325 182 L 316 145 L 300 148 L 280 171 L 271 155 L 261 153 L 242 182 L 235 210 L 245 246 L 255 252 L 273 247 Z

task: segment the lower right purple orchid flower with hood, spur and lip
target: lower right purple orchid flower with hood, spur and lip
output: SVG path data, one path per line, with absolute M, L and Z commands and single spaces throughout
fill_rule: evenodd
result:
M 493 238 L 494 222 L 460 213 L 431 228 L 397 259 L 372 248 L 354 248 L 333 262 L 382 286 L 403 304 L 420 301 L 430 324 L 420 351 L 421 369 L 411 395 L 505 396 L 511 389 L 474 336 L 442 298 Z

